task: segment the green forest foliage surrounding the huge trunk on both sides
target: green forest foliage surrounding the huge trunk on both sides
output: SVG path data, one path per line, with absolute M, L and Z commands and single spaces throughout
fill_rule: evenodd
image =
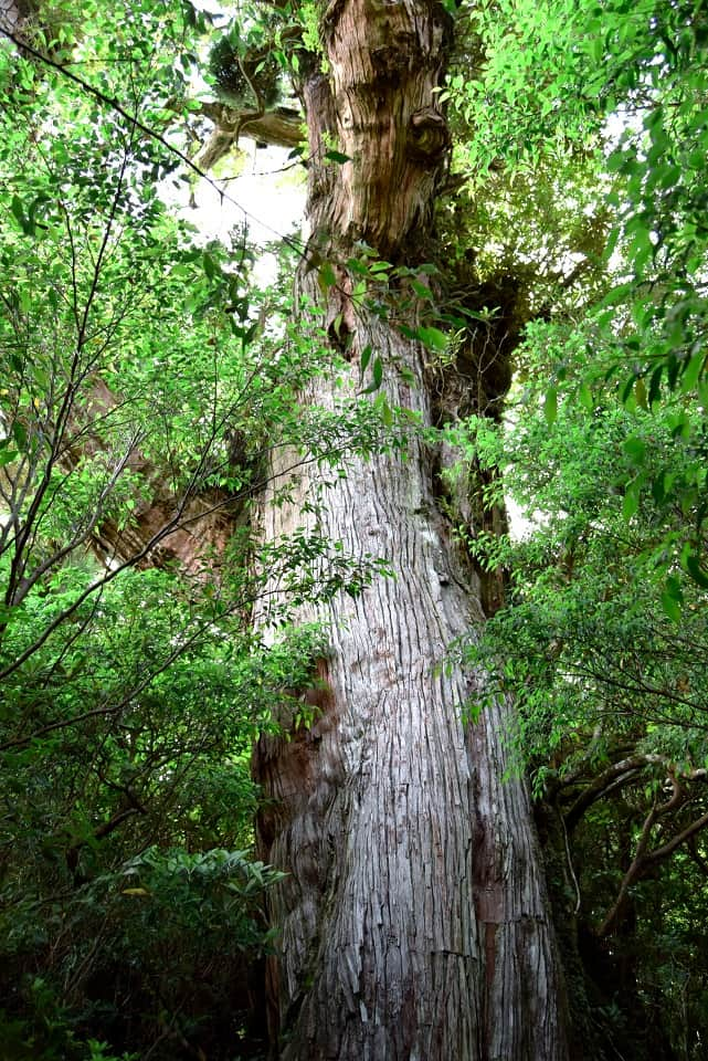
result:
M 440 666 L 486 675 L 471 726 L 516 702 L 574 1026 L 599 1059 L 705 1053 L 708 10 L 445 7 L 445 271 L 364 242 L 347 263 L 355 307 L 399 292 L 441 395 L 488 336 L 424 429 L 377 349 L 303 409 L 347 322 L 289 277 L 327 295 L 337 262 L 285 238 L 261 290 L 245 221 L 204 244 L 169 206 L 198 171 L 237 199 L 240 137 L 311 162 L 314 4 L 0 11 L 2 1058 L 263 1055 L 282 874 L 251 748 L 317 718 L 304 602 L 398 561 L 317 521 L 264 542 L 273 452 L 336 480 L 422 431 L 486 614 Z

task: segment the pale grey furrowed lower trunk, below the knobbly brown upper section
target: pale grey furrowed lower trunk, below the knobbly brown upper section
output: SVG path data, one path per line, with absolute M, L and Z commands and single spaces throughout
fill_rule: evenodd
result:
M 430 422 L 422 353 L 379 322 L 358 343 L 415 371 L 414 385 L 390 382 L 389 401 Z M 567 1057 L 529 800 L 504 779 L 506 706 L 465 727 L 484 675 L 445 665 L 482 614 L 430 456 L 415 440 L 406 459 L 356 459 L 327 490 L 321 532 L 390 559 L 397 577 L 332 602 L 320 713 L 255 757 L 272 800 L 261 853 L 289 874 L 270 967 L 287 1061 Z M 268 507 L 266 534 L 299 522 L 304 500 Z

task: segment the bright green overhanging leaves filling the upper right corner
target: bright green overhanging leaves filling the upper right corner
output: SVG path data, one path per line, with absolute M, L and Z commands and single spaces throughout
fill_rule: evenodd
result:
M 585 293 L 589 365 L 577 400 L 592 408 L 588 396 L 606 377 L 631 409 L 672 399 L 684 471 L 673 479 L 662 477 L 661 469 L 653 475 L 637 459 L 625 480 L 626 511 L 643 503 L 648 489 L 655 501 L 663 493 L 667 508 L 678 504 L 690 513 L 693 528 L 687 521 L 666 539 L 668 563 L 657 574 L 662 579 L 679 563 L 708 585 L 702 416 L 691 414 L 706 403 L 705 4 L 552 0 L 539 8 L 512 0 L 475 6 L 468 25 L 477 67 L 474 76 L 453 78 L 447 91 L 476 134 L 461 156 L 473 181 L 494 182 L 498 178 L 488 175 L 501 168 L 511 187 L 529 180 L 556 187 L 561 206 L 578 203 L 591 217 L 572 170 L 581 156 L 593 160 L 604 196 L 604 206 L 593 209 L 603 225 L 613 220 L 606 245 L 602 233 L 591 253 L 604 259 L 612 287 L 600 290 L 600 297 Z M 549 419 L 557 386 L 577 387 L 580 375 L 575 367 L 566 380 L 564 367 L 558 368 L 549 380 Z M 663 590 L 670 593 L 670 584 L 664 581 Z

